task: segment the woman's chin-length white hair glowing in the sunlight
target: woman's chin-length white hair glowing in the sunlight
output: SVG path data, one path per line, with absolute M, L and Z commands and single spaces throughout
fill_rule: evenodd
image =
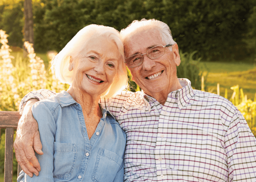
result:
M 53 58 L 52 72 L 55 73 L 56 78 L 62 83 L 71 85 L 73 82 L 73 70 L 68 70 L 70 57 L 75 60 L 85 48 L 90 37 L 99 36 L 106 37 L 110 41 L 113 41 L 117 45 L 120 53 L 117 75 L 110 87 L 102 94 L 102 96 L 108 98 L 126 89 L 128 85 L 127 71 L 124 63 L 123 43 L 120 39 L 119 32 L 113 27 L 91 24 L 81 29 L 59 52 L 59 54 Z

